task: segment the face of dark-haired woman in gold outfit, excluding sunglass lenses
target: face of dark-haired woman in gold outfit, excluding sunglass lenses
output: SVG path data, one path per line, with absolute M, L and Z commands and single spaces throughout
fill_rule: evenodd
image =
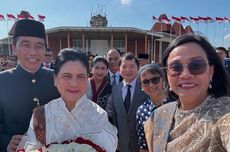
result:
M 208 95 L 208 86 L 213 76 L 214 67 L 208 63 L 204 73 L 191 74 L 188 70 L 188 64 L 194 59 L 208 62 L 203 48 L 192 42 L 174 48 L 167 59 L 168 68 L 174 63 L 183 65 L 183 71 L 180 75 L 170 76 L 167 73 L 169 86 L 178 95 L 183 109 L 193 109 L 204 101 Z

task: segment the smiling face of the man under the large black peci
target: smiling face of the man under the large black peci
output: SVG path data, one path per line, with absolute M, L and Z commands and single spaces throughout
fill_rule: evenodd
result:
M 37 37 L 20 36 L 12 46 L 23 68 L 34 73 L 41 66 L 45 55 L 45 40 Z

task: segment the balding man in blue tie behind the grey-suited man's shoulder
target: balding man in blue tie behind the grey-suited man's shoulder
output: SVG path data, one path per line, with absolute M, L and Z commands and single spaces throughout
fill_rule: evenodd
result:
M 109 49 L 105 52 L 105 58 L 109 63 L 108 81 L 114 86 L 121 82 L 123 78 L 119 73 L 119 60 L 121 52 L 118 49 Z

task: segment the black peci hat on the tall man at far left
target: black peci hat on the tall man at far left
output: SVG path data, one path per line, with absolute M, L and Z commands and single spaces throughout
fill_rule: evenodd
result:
M 43 23 L 23 19 L 16 22 L 13 38 L 18 36 L 32 36 L 46 40 L 45 26 Z

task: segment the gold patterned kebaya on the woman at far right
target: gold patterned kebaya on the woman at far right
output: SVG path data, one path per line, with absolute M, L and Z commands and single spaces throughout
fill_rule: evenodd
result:
M 151 152 L 230 151 L 230 97 L 208 96 L 192 110 L 180 110 L 178 105 L 163 105 L 146 122 Z

